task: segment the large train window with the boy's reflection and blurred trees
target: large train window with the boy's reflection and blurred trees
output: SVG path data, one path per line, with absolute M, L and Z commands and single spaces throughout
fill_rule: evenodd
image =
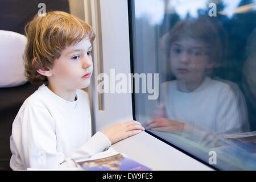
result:
M 129 1 L 135 119 L 217 169 L 256 169 L 255 8 Z

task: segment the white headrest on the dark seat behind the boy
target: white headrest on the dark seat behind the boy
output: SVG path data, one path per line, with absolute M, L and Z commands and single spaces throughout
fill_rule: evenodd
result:
M 27 43 L 24 35 L 0 30 L 0 87 L 24 84 L 23 52 Z

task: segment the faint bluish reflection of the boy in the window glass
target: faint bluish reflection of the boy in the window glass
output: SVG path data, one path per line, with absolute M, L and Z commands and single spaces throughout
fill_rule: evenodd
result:
M 222 57 L 217 27 L 207 18 L 183 20 L 175 24 L 166 41 L 176 80 L 162 84 L 165 114 L 153 118 L 146 129 L 195 135 L 248 130 L 246 105 L 238 105 L 235 84 L 208 77 Z

